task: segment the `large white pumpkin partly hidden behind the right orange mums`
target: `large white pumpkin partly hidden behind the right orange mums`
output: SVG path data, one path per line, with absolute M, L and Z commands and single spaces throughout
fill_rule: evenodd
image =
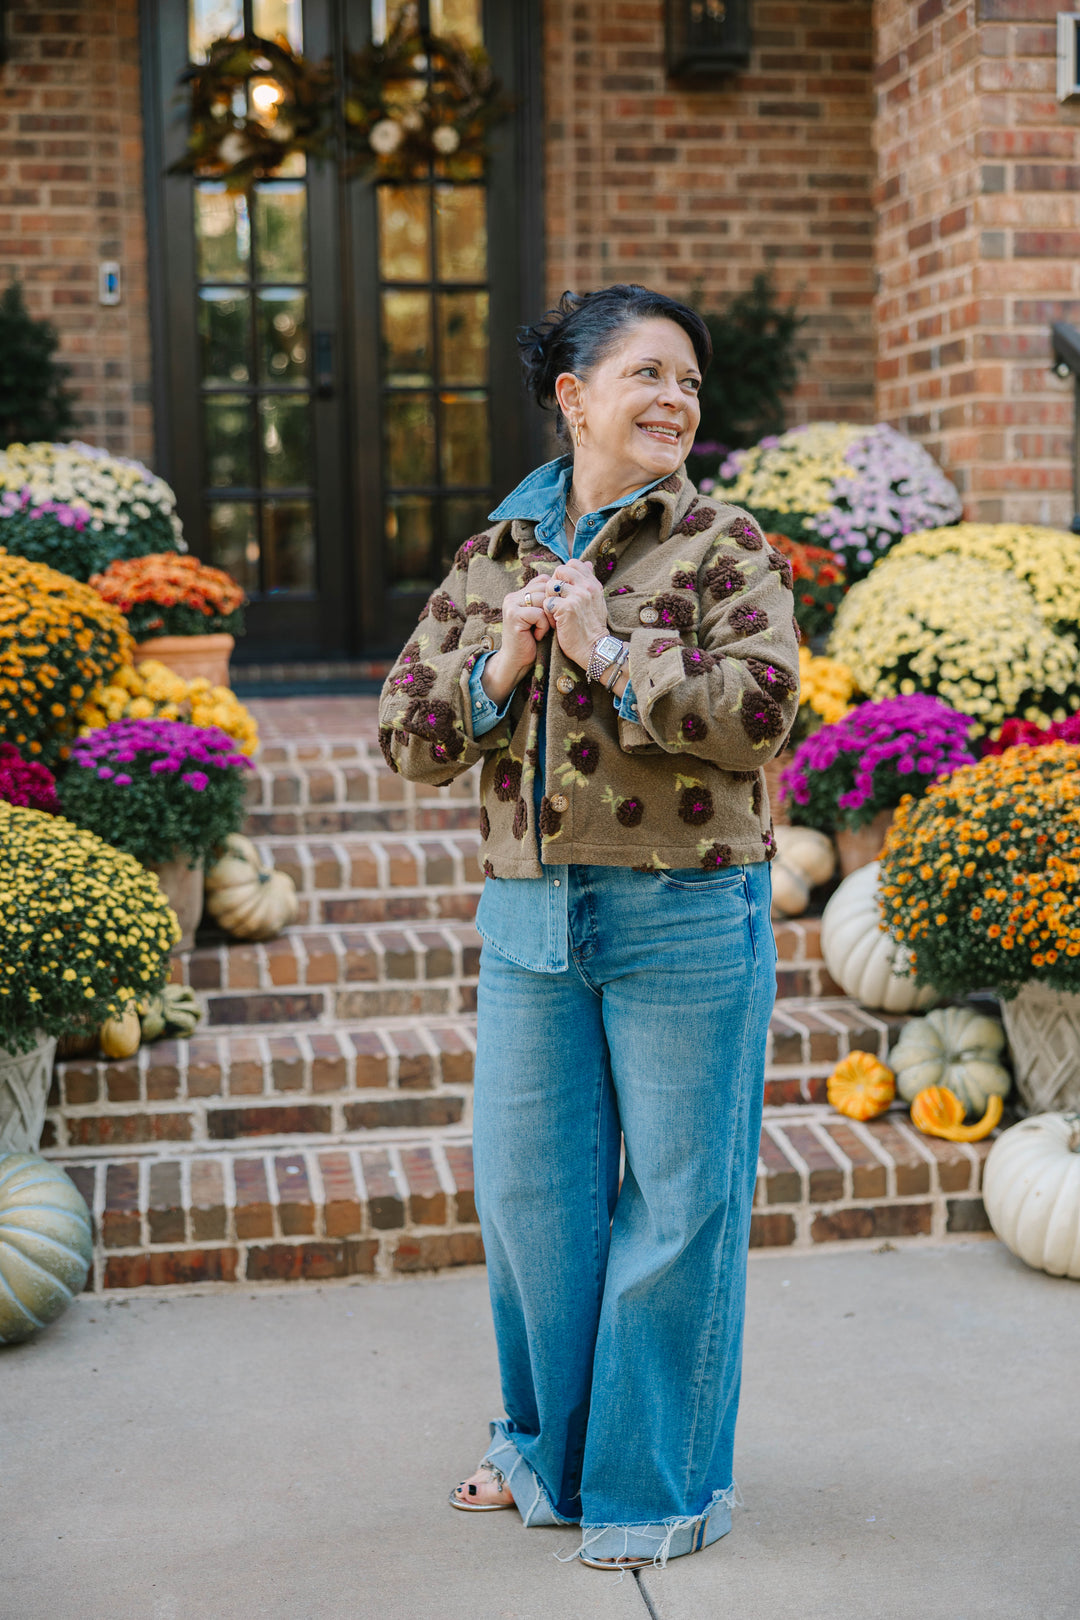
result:
M 881 927 L 878 867 L 852 872 L 836 891 L 821 919 L 821 954 L 844 995 L 882 1013 L 913 1013 L 933 1006 L 938 991 L 902 975 L 908 961 Z

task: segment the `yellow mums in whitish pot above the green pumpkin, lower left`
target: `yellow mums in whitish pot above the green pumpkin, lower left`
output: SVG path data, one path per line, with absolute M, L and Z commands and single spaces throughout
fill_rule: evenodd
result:
M 0 1152 L 37 1147 L 57 1038 L 160 990 L 176 919 L 87 828 L 0 802 Z

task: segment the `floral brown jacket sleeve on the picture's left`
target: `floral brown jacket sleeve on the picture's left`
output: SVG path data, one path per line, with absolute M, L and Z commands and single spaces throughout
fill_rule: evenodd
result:
M 390 770 L 413 782 L 444 786 L 510 735 L 508 714 L 473 734 L 470 679 L 478 659 L 499 646 L 502 619 L 500 609 L 470 596 L 470 546 L 476 541 L 466 541 L 427 598 L 379 698 L 379 747 Z

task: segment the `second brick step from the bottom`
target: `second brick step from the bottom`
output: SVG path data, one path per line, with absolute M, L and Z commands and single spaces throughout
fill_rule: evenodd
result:
M 887 1056 L 904 1019 L 842 998 L 779 1001 L 766 1105 L 826 1102 L 826 1077 L 858 1048 Z M 476 1024 L 468 1016 L 207 1029 L 123 1063 L 58 1063 L 47 1147 L 455 1131 L 471 1110 Z

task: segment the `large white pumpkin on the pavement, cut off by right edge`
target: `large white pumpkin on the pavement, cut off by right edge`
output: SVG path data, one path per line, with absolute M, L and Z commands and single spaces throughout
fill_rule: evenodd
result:
M 1002 1131 L 983 1168 L 989 1223 L 1025 1265 L 1080 1280 L 1080 1115 Z

